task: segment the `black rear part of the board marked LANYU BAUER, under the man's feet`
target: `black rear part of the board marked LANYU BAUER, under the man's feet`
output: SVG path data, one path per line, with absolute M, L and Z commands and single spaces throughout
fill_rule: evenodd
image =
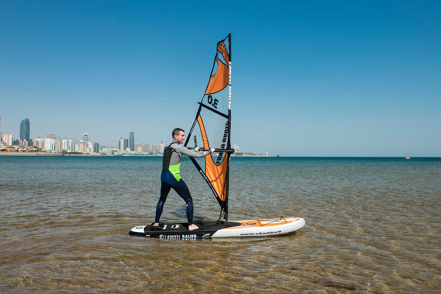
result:
M 225 226 L 222 223 L 211 225 L 216 222 L 202 222 L 197 221 L 198 225 L 202 229 L 188 231 L 187 223 L 166 223 L 162 230 L 149 230 L 150 226 L 144 227 L 144 233 L 130 231 L 129 235 L 137 235 L 143 237 L 157 237 L 163 239 L 195 239 L 195 238 L 210 238 L 216 231 L 227 228 L 237 227 L 241 223 L 228 223 L 229 226 Z

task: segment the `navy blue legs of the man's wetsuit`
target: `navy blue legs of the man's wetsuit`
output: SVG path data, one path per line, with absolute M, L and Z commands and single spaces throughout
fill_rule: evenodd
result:
M 178 182 L 170 171 L 164 170 L 161 173 L 161 197 L 159 197 L 158 204 L 156 205 L 155 223 L 159 223 L 164 203 L 171 188 L 185 201 L 185 212 L 187 213 L 187 221 L 190 226 L 193 224 L 193 198 L 191 198 L 190 190 L 188 190 L 187 184 L 183 179 L 180 179 Z

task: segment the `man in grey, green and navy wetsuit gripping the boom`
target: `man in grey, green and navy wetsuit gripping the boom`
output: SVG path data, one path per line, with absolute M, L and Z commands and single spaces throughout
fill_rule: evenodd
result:
M 190 157 L 201 158 L 214 152 L 214 148 L 208 151 L 199 151 L 199 147 L 193 150 L 184 146 L 179 146 L 185 139 L 185 132 L 182 129 L 176 128 L 172 132 L 173 141 L 164 149 L 164 158 L 162 160 L 161 173 L 161 197 L 156 205 L 156 217 L 153 227 L 159 226 L 159 219 L 161 218 L 162 209 L 164 208 L 165 200 L 168 192 L 173 188 L 177 194 L 185 201 L 185 212 L 187 213 L 188 230 L 196 230 L 201 228 L 199 225 L 193 223 L 193 199 L 190 195 L 187 185 L 179 175 L 179 167 L 183 155 Z

